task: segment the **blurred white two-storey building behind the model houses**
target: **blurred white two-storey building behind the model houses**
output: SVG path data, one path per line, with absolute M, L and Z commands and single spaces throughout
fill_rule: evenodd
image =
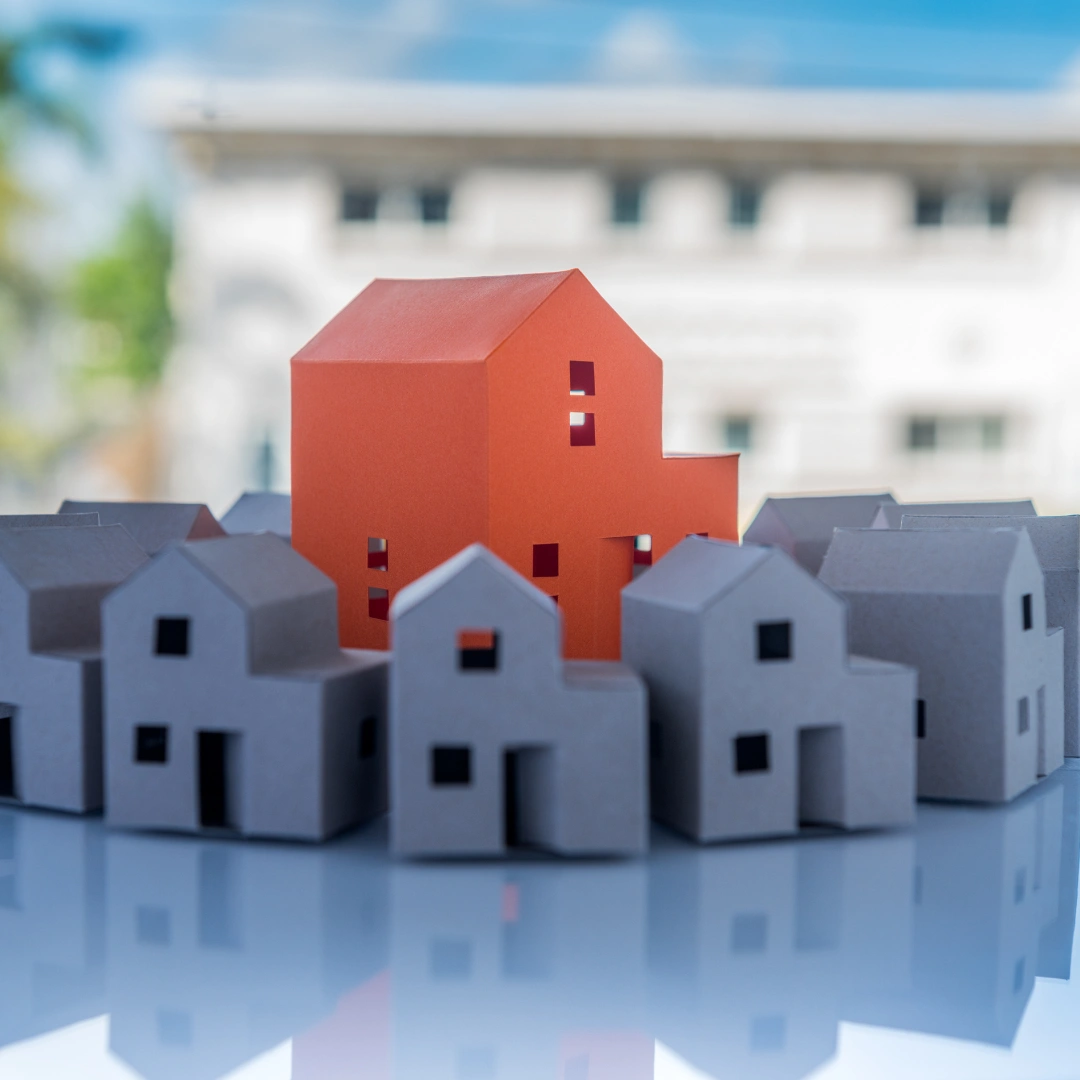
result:
M 170 491 L 288 485 L 288 357 L 374 276 L 581 267 L 670 450 L 766 492 L 1080 505 L 1080 98 L 159 83 Z

